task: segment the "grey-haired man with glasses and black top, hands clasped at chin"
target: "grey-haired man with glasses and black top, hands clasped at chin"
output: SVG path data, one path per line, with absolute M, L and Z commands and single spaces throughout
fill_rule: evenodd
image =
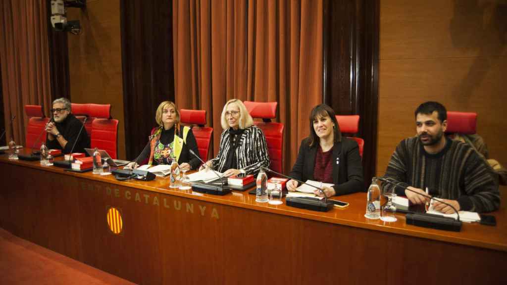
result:
M 52 120 L 46 125 L 46 145 L 48 149 L 62 150 L 64 154 L 71 151 L 84 153 L 85 148 L 90 148 L 90 139 L 83 123 L 70 113 L 70 108 L 70 101 L 66 98 L 53 101 Z

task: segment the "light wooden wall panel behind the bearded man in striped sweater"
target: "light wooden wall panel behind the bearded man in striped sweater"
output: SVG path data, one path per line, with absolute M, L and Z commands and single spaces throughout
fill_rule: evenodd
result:
M 490 158 L 507 164 L 499 135 L 507 132 L 500 108 L 507 74 L 502 11 L 507 5 L 500 1 L 381 2 L 377 175 L 400 140 L 415 134 L 413 113 L 428 100 L 477 112 Z

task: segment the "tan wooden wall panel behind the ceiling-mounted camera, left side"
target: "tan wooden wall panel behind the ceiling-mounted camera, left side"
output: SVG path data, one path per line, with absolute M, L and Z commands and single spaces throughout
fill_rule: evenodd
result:
M 120 1 L 88 1 L 85 10 L 69 8 L 82 33 L 68 34 L 70 98 L 74 103 L 111 104 L 118 126 L 118 158 L 125 158 Z

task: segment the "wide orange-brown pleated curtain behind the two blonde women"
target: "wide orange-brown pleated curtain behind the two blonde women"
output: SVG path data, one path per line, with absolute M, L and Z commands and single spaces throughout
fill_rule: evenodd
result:
M 208 111 L 216 155 L 227 100 L 278 101 L 290 171 L 322 102 L 322 1 L 174 0 L 173 11 L 178 108 Z

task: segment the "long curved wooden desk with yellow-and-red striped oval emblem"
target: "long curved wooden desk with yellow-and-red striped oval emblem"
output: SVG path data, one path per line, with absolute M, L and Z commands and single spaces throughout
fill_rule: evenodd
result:
M 7 155 L 0 173 L 0 227 L 140 284 L 507 283 L 503 205 L 496 227 L 447 232 L 406 225 L 401 214 L 395 223 L 367 220 L 365 193 L 322 213 Z M 121 225 L 108 217 L 112 207 Z

